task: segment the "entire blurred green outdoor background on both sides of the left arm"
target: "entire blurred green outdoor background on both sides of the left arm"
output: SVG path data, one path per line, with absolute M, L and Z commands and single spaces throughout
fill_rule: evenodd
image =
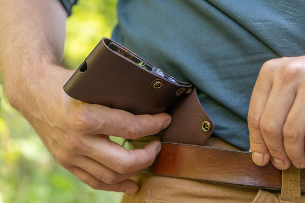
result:
M 77 69 L 116 24 L 116 0 L 80 0 L 68 18 L 64 64 Z M 1 85 L 1 84 L 0 84 Z M 47 151 L 0 87 L 0 203 L 119 202 L 121 193 L 90 188 Z

